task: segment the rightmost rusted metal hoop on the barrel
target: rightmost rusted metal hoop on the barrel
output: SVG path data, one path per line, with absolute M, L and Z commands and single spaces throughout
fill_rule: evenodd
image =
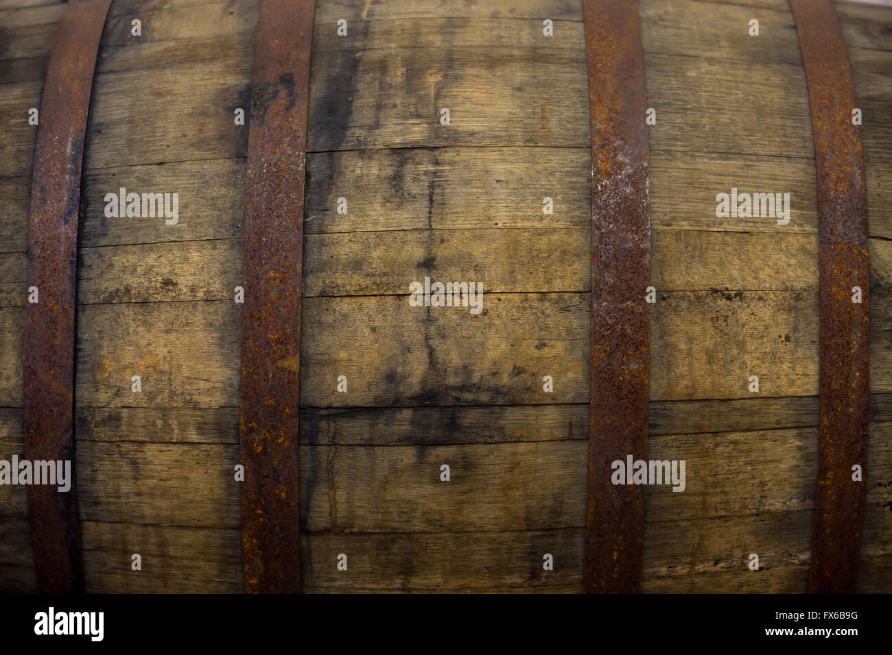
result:
M 855 591 L 870 407 L 867 196 L 848 51 L 830 0 L 790 0 L 812 110 L 821 265 L 821 423 L 814 502 L 813 593 Z M 861 288 L 861 302 L 853 300 Z

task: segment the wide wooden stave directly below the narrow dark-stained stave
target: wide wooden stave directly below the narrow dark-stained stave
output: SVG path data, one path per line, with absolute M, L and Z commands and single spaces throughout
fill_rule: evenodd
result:
M 892 456 L 889 430 L 888 423 L 871 428 L 871 452 L 883 465 Z M 657 437 L 652 458 L 684 459 L 687 487 L 681 494 L 648 487 L 648 521 L 810 509 L 816 445 L 815 428 Z M 78 493 L 89 501 L 85 520 L 238 527 L 235 445 L 78 448 L 90 462 L 78 467 Z M 584 448 L 582 440 L 301 446 L 301 523 L 310 531 L 400 533 L 581 527 Z M 439 479 L 443 463 L 450 464 L 449 483 Z M 174 480 L 179 494 L 168 491 Z M 888 503 L 888 495 L 885 480 L 876 480 L 868 503 Z

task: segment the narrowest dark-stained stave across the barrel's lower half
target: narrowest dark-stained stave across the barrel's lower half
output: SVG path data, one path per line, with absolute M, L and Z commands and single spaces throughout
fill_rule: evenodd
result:
M 650 433 L 776 430 L 818 424 L 817 397 L 651 401 Z M 343 407 L 301 410 L 303 445 L 407 446 L 585 440 L 585 405 Z M 871 422 L 892 422 L 892 393 L 871 396 Z M 238 443 L 235 407 L 86 407 L 78 438 L 153 443 Z M 21 411 L 0 409 L 0 440 L 21 444 Z

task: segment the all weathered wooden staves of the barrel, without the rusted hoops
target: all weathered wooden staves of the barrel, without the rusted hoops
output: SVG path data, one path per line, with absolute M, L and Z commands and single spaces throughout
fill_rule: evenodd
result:
M 804 592 L 819 240 L 796 22 L 785 0 L 638 6 L 656 111 L 648 449 L 687 471 L 682 493 L 647 487 L 642 589 Z M 863 112 L 871 237 L 857 584 L 888 592 L 892 9 L 834 7 Z M 40 106 L 65 8 L 0 0 L 6 460 L 23 456 L 29 109 Z M 78 228 L 75 470 L 89 592 L 243 590 L 235 287 L 250 120 L 237 125 L 235 114 L 249 113 L 259 12 L 258 0 L 114 0 L 105 23 Z M 582 20 L 571 0 L 317 4 L 303 217 L 304 591 L 581 589 L 592 248 Z M 108 217 L 105 195 L 121 187 L 177 192 L 178 222 Z M 789 193 L 789 224 L 717 217 L 716 195 L 732 188 Z M 482 311 L 412 307 L 409 285 L 425 277 L 483 285 Z M 33 591 L 35 579 L 24 488 L 0 486 L 0 589 Z

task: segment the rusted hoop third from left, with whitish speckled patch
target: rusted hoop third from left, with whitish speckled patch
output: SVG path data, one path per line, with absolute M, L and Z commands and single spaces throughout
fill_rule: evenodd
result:
M 582 588 L 640 591 L 644 491 L 611 463 L 647 459 L 650 199 L 644 53 L 634 0 L 583 0 L 591 104 L 591 405 Z M 631 477 L 632 471 L 627 471 Z M 631 480 L 630 480 L 631 482 Z

